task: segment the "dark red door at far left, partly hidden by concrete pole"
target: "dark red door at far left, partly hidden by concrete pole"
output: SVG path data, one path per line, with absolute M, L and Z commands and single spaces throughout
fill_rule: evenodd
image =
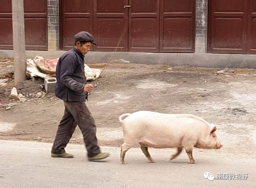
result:
M 0 6 L 0 49 L 13 49 L 11 0 Z M 47 0 L 24 0 L 26 50 L 47 50 Z

